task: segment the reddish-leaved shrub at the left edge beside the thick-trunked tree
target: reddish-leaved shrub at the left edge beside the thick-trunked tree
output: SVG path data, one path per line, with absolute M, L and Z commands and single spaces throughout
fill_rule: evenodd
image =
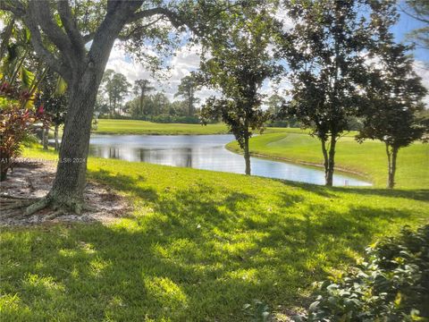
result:
M 43 106 L 37 110 L 22 107 L 28 99 L 26 92 L 2 84 L 0 97 L 5 98 L 0 104 L 0 181 L 4 181 L 14 159 L 21 154 L 22 141 L 36 129 L 35 123 L 45 127 L 49 119 Z

